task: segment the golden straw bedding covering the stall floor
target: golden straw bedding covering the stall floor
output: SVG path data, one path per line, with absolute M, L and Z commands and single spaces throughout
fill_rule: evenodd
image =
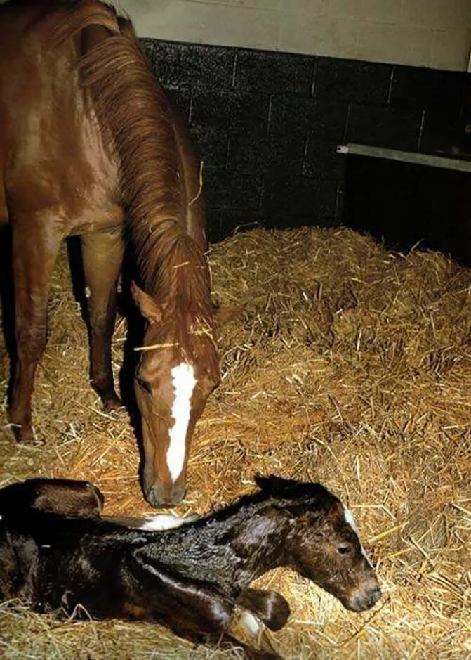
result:
M 223 383 L 194 436 L 178 512 L 251 490 L 254 472 L 321 481 L 350 505 L 383 598 L 366 614 L 279 569 L 260 585 L 292 607 L 273 635 L 287 658 L 459 658 L 471 653 L 470 272 L 442 254 L 385 252 L 349 230 L 240 233 L 211 250 L 213 290 L 241 306 L 220 340 Z M 44 446 L 0 429 L 1 484 L 36 474 L 90 479 L 107 514 L 149 512 L 128 415 L 105 415 L 65 252 L 34 420 Z M 122 360 L 126 323 L 113 355 Z M 1 385 L 8 376 L 0 347 Z M 2 422 L 2 427 L 6 422 Z M 161 626 L 58 621 L 0 606 L 8 658 L 218 658 Z

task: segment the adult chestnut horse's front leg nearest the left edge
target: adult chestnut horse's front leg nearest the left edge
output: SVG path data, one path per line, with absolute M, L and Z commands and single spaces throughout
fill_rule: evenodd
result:
M 34 438 L 31 418 L 34 374 L 46 346 L 49 280 L 61 238 L 50 218 L 15 216 L 13 280 L 17 363 L 8 421 L 18 441 Z

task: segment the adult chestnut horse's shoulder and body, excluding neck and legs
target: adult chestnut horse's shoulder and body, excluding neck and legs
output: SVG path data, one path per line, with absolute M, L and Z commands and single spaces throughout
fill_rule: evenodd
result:
M 66 235 L 119 224 L 121 214 L 117 164 L 79 84 L 80 38 L 51 44 L 58 6 L 20 1 L 0 9 L 0 218 L 27 215 L 32 223 L 48 209 Z

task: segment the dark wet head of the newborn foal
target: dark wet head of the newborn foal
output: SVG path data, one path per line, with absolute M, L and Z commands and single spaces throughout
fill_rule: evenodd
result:
M 381 595 L 378 579 L 352 514 L 340 500 L 319 484 L 279 477 L 258 477 L 257 482 L 290 517 L 286 562 L 347 609 L 373 607 Z

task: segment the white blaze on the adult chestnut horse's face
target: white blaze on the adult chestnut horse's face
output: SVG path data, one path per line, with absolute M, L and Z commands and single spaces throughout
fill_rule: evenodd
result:
M 185 440 L 190 422 L 191 402 L 196 379 L 192 365 L 182 362 L 171 370 L 175 399 L 172 417 L 175 420 L 170 429 L 170 444 L 167 450 L 168 472 L 173 481 L 180 476 L 185 460 Z

